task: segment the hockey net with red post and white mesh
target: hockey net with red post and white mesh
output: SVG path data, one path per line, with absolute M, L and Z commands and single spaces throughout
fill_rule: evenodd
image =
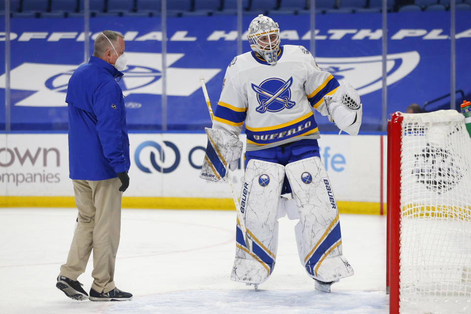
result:
M 455 110 L 388 125 L 390 313 L 471 313 L 471 138 Z

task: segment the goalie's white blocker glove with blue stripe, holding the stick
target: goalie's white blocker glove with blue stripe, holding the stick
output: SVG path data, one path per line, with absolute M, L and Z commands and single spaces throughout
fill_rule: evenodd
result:
M 234 171 L 237 168 L 243 144 L 235 134 L 231 135 L 223 130 L 209 128 L 205 128 L 205 131 L 208 135 L 208 145 L 200 178 L 225 181 L 227 169 Z

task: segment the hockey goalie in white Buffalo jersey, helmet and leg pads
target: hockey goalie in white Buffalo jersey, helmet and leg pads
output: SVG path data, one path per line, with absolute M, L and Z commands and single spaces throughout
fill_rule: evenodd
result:
M 299 220 L 295 235 L 301 264 L 316 289 L 330 292 L 353 269 L 342 255 L 339 211 L 320 160 L 314 110 L 356 135 L 362 104 L 356 90 L 321 71 L 306 48 L 280 46 L 279 32 L 278 24 L 263 15 L 250 23 L 252 51 L 236 56 L 226 70 L 213 125 L 206 130 L 200 177 L 220 181 L 228 168 L 234 170 L 245 123 L 238 208 L 243 218 L 237 219 L 231 279 L 255 288 L 268 279 L 276 261 L 277 220 L 287 214 Z

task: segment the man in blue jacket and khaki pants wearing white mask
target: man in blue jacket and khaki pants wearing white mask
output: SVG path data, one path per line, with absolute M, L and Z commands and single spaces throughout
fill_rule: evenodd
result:
M 130 167 L 126 107 L 117 78 L 127 60 L 120 33 L 105 30 L 88 63 L 69 80 L 69 171 L 78 208 L 77 227 L 56 287 L 75 300 L 131 300 L 114 284 L 121 225 L 121 197 Z M 77 281 L 93 249 L 90 296 Z

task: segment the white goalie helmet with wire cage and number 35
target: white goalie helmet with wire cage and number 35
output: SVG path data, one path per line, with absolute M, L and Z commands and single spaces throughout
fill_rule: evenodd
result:
M 278 61 L 280 28 L 271 18 L 260 14 L 252 20 L 247 33 L 250 48 L 271 65 Z

